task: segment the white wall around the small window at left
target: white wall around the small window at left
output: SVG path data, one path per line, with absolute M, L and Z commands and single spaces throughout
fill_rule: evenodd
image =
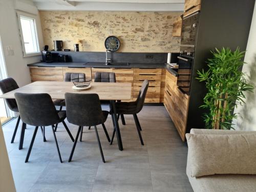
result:
M 37 62 L 41 56 L 23 57 L 22 45 L 18 32 L 18 23 L 15 9 L 37 14 L 37 8 L 32 1 L 26 0 L 0 0 L 0 36 L 4 51 L 5 63 L 8 77 L 14 78 L 19 86 L 30 83 L 28 63 Z M 39 47 L 42 48 L 44 42 L 41 33 L 40 18 L 37 18 L 37 31 Z M 14 54 L 10 55 L 7 46 L 11 46 Z

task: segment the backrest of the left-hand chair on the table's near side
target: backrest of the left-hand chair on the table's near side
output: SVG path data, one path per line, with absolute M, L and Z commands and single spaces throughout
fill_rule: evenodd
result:
M 33 126 L 49 126 L 59 122 L 52 98 L 47 93 L 15 93 L 22 121 Z

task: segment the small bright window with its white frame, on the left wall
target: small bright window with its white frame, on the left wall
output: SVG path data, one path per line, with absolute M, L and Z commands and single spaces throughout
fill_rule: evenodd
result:
M 40 50 L 36 31 L 36 16 L 17 12 L 17 17 L 24 56 L 39 55 Z

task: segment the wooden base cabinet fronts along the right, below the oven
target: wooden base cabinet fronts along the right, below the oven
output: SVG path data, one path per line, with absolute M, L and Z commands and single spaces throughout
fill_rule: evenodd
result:
M 172 118 L 180 137 L 185 141 L 189 96 L 180 91 L 177 77 L 166 72 L 164 106 Z

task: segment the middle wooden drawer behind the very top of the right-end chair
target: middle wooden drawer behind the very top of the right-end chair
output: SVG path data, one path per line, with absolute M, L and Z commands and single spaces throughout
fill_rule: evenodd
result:
M 161 75 L 134 74 L 134 86 L 141 86 L 145 79 L 149 81 L 150 86 L 161 85 Z

